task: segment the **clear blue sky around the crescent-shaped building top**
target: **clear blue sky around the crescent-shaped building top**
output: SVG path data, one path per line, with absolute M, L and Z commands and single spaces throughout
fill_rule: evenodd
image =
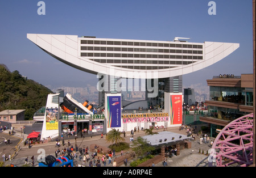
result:
M 219 74 L 253 73 L 253 23 L 250 0 L 216 2 L 209 15 L 205 0 L 46 0 L 38 15 L 35 0 L 0 1 L 0 63 L 44 85 L 85 87 L 96 75 L 65 65 L 27 39 L 27 33 L 96 36 L 115 39 L 240 43 L 212 66 L 183 75 L 183 85 L 203 83 Z

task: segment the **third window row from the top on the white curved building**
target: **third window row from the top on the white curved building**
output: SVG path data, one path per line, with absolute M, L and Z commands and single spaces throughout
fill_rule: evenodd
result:
M 180 55 L 158 55 L 158 54 L 115 54 L 115 53 L 81 53 L 81 57 L 123 57 L 123 58 L 164 58 L 203 60 L 203 56 L 180 56 Z

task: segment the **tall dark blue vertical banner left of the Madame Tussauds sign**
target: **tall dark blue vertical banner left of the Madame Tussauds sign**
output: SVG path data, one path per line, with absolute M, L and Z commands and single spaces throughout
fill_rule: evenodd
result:
M 121 96 L 107 96 L 108 128 L 121 127 Z

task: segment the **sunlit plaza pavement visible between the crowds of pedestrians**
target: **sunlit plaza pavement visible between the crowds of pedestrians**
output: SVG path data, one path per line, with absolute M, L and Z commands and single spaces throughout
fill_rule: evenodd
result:
M 161 132 L 163 130 L 159 129 L 158 132 Z M 179 134 L 186 134 L 185 130 L 179 130 L 178 127 L 172 127 L 172 128 L 168 128 L 167 131 L 169 132 L 175 132 L 175 133 L 179 133 Z M 7 135 L 7 133 L 9 132 L 9 130 L 6 130 L 4 133 Z M 137 137 L 141 136 L 143 137 L 145 135 L 145 133 L 140 130 L 139 132 L 135 132 L 134 134 L 134 139 L 136 139 Z M 86 147 L 86 146 L 90 146 L 90 145 L 101 145 L 101 146 L 105 146 L 108 147 L 111 143 L 106 143 L 105 141 L 105 135 L 104 138 L 101 139 L 101 135 L 92 135 L 92 137 L 87 136 L 84 138 L 79 137 L 80 135 L 78 135 L 77 138 L 77 145 L 80 147 Z M 20 146 L 21 150 L 18 152 L 18 155 L 13 159 L 13 160 L 7 160 L 5 162 L 5 165 L 10 165 L 13 164 L 17 167 L 21 167 L 24 165 L 24 160 L 28 157 L 29 162 L 31 163 L 31 156 L 34 155 L 35 156 L 35 166 L 38 166 L 38 162 L 37 162 L 37 157 L 41 152 L 38 152 L 39 149 L 44 149 L 46 151 L 46 155 L 53 155 L 55 156 L 55 150 L 57 149 L 57 147 L 55 147 L 55 141 L 52 142 L 47 142 L 47 143 L 40 143 L 40 144 L 36 144 L 33 145 L 31 149 L 28 149 L 28 146 L 24 146 L 23 141 L 22 141 L 22 137 L 23 138 L 27 138 L 27 135 L 21 134 L 20 132 L 16 132 L 14 135 L 15 138 L 20 138 L 20 142 L 18 143 L 18 147 Z M 123 137 L 123 134 L 122 134 Z M 60 146 L 60 150 L 63 149 L 64 147 L 67 148 L 67 141 L 68 139 L 71 142 L 71 145 L 75 146 L 75 139 L 73 137 L 70 138 L 65 138 L 65 146 Z M 125 137 L 125 141 L 127 143 L 131 143 L 130 142 L 130 132 L 126 132 L 126 137 Z M 13 147 L 15 145 L 12 145 Z M 208 143 L 203 143 L 200 145 L 200 138 L 199 136 L 196 135 L 196 140 L 192 141 L 192 146 L 191 149 L 184 149 L 184 150 L 180 150 L 180 155 L 178 156 L 174 156 L 172 158 L 167 158 L 167 167 L 207 167 L 208 166 L 208 156 L 205 155 L 207 150 L 209 150 L 211 148 L 211 146 Z M 10 149 L 11 150 L 11 149 Z M 199 153 L 199 150 L 201 150 L 201 152 L 204 150 L 204 154 Z M 89 151 L 89 155 L 91 155 L 92 152 Z M 79 155 L 79 153 L 77 154 Z M 120 156 L 117 154 L 117 156 Z M 91 156 L 90 156 L 91 158 Z M 130 164 L 130 162 L 132 162 L 133 160 L 130 160 L 128 162 L 128 166 Z M 80 164 L 83 166 L 88 167 L 89 164 L 88 163 L 83 163 L 82 159 L 79 160 L 79 156 L 77 157 L 76 160 L 74 160 L 74 163 L 76 164 Z M 106 163 L 106 167 L 112 167 L 113 164 L 108 164 Z M 124 165 L 122 165 L 124 166 Z M 101 167 L 104 167 L 104 165 L 101 162 Z M 155 165 L 155 167 L 163 167 L 162 162 L 158 163 Z

